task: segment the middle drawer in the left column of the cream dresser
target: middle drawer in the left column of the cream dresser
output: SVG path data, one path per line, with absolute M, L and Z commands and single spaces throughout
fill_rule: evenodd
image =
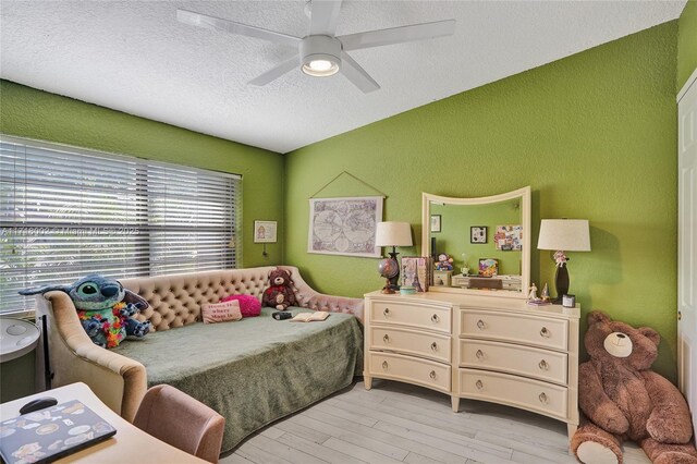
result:
M 374 326 L 370 350 L 387 350 L 450 363 L 450 337 L 408 329 Z

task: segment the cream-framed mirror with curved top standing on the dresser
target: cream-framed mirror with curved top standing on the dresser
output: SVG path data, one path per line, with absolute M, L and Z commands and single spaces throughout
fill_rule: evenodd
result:
M 529 186 L 479 198 L 424 193 L 421 215 L 421 256 L 453 260 L 452 271 L 435 271 L 429 291 L 527 297 Z

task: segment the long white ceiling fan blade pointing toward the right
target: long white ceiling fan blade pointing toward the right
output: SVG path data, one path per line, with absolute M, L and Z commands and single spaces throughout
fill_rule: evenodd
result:
M 368 30 L 337 37 L 343 49 L 359 50 L 362 48 L 382 47 L 383 45 L 403 44 L 405 41 L 424 40 L 433 37 L 451 36 L 455 33 L 455 20 L 436 21 L 435 23 L 413 24 L 411 26 L 392 27 L 390 29 Z

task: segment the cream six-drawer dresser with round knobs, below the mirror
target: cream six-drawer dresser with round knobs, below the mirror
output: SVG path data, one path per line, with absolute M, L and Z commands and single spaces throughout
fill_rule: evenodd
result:
M 426 292 L 365 295 L 365 386 L 399 380 L 578 425 L 580 309 Z

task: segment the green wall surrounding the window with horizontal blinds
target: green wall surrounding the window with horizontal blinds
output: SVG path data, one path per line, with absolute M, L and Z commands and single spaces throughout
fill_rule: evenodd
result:
M 283 157 L 72 98 L 0 81 L 0 133 L 242 174 L 244 267 L 283 261 L 282 243 L 254 244 L 254 220 L 279 221 Z

